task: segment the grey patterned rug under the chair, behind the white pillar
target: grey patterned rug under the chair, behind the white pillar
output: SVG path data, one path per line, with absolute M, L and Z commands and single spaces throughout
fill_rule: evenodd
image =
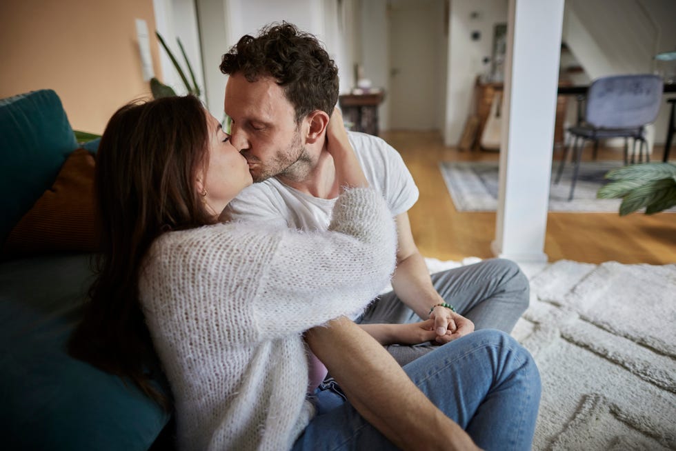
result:
M 552 212 L 617 212 L 620 199 L 597 199 L 596 192 L 606 180 L 610 169 L 622 166 L 622 161 L 584 161 L 580 164 L 575 195 L 568 201 L 573 164 L 566 163 L 559 183 L 553 183 L 559 163 L 552 169 L 549 211 Z M 459 212 L 495 211 L 497 209 L 497 161 L 441 161 L 439 169 L 446 187 Z M 676 208 L 668 210 L 676 212 Z

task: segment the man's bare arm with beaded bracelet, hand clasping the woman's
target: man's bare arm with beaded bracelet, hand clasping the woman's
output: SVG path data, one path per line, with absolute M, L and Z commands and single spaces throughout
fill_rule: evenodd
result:
M 392 277 L 392 288 L 408 307 L 421 319 L 430 317 L 430 308 L 444 299 L 435 290 L 425 259 L 420 254 L 410 230 L 408 213 L 397 215 L 397 268 Z M 435 307 L 433 311 L 437 341 L 447 343 L 474 331 L 469 319 L 452 312 L 446 307 Z

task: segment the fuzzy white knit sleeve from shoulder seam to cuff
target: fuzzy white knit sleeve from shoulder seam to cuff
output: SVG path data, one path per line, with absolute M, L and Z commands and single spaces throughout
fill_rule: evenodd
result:
M 328 232 L 287 230 L 255 303 L 257 318 L 279 321 L 279 333 L 302 332 L 357 314 L 387 285 L 397 234 L 381 194 L 354 188 L 338 198 Z M 260 325 L 261 332 L 268 328 Z

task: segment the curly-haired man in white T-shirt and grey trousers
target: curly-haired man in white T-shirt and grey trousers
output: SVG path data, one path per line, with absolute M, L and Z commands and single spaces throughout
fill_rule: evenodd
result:
M 339 192 L 326 151 L 326 125 L 338 99 L 334 62 L 315 37 L 283 23 L 240 39 L 220 68 L 230 76 L 224 108 L 232 144 L 260 182 L 230 203 L 226 217 L 325 230 Z M 388 350 L 401 364 L 430 346 L 396 345 L 425 343 L 432 330 L 439 344 L 475 328 L 510 332 L 528 307 L 528 280 L 517 265 L 491 259 L 430 277 L 410 230 L 407 211 L 418 190 L 404 162 L 377 137 L 352 132 L 350 143 L 370 186 L 388 201 L 398 234 L 393 291 L 356 321 L 380 343 L 395 345 Z

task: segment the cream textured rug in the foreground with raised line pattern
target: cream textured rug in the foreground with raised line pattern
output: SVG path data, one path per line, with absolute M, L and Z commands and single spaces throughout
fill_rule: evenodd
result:
M 512 335 L 542 381 L 533 450 L 676 450 L 676 264 L 522 268 L 530 307 Z

